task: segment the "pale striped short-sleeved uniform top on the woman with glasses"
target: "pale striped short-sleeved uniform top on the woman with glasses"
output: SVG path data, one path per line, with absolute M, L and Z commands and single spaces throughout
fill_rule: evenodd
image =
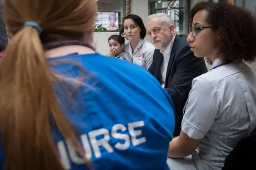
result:
M 212 68 L 222 64 L 216 59 Z M 195 78 L 184 109 L 182 131 L 202 139 L 192 154 L 197 170 L 221 170 L 238 141 L 256 127 L 256 73 L 242 61 Z

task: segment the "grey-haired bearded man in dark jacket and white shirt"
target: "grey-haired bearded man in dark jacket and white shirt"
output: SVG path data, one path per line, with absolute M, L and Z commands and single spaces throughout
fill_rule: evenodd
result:
M 183 108 L 191 90 L 192 80 L 208 70 L 204 58 L 190 50 L 187 37 L 175 34 L 172 18 L 165 13 L 148 16 L 146 30 L 156 50 L 149 72 L 162 84 L 174 104 L 175 130 L 179 136 Z

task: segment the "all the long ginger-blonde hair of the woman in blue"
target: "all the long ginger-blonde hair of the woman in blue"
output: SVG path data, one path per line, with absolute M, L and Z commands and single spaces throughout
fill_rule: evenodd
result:
M 50 120 L 85 157 L 74 129 L 57 102 L 43 44 L 62 40 L 90 41 L 95 0 L 4 0 L 4 19 L 14 35 L 0 67 L 0 130 L 4 170 L 64 170 L 52 138 Z M 28 21 L 36 22 L 42 34 Z M 62 78 L 64 79 L 64 78 Z

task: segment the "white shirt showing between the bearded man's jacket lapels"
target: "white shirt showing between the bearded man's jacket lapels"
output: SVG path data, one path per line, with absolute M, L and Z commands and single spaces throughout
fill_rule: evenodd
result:
M 172 38 L 172 41 L 167 46 L 167 48 L 164 50 L 164 52 L 160 51 L 164 55 L 164 60 L 162 62 L 161 68 L 160 68 L 161 69 L 161 75 L 162 75 L 161 84 L 162 84 L 163 88 L 164 88 L 164 84 L 165 84 L 167 67 L 168 67 L 170 56 L 171 56 L 172 46 L 173 46 L 173 43 L 174 43 L 175 36 L 176 36 L 176 34 L 174 35 L 174 37 Z

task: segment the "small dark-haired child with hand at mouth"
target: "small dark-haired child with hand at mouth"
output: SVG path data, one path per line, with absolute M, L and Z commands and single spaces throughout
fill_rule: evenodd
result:
M 132 57 L 127 52 L 123 52 L 125 39 L 119 35 L 112 35 L 108 38 L 110 52 L 108 56 L 120 58 L 132 62 Z

